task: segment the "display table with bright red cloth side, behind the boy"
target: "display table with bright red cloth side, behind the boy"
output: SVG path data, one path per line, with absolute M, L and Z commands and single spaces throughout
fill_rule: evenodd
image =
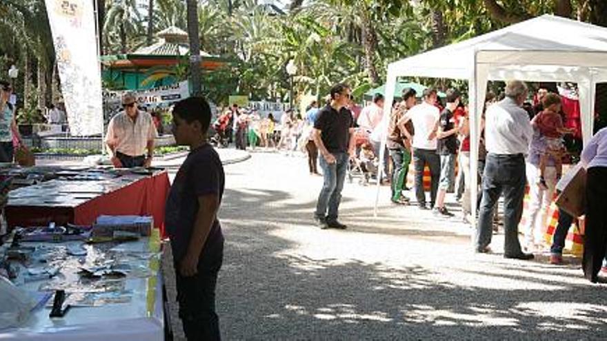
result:
M 86 177 L 85 177 L 86 178 Z M 56 179 L 11 191 L 8 227 L 72 223 L 91 225 L 101 215 L 153 216 L 163 235 L 164 206 L 170 183 L 166 171 L 103 174 L 88 179 Z

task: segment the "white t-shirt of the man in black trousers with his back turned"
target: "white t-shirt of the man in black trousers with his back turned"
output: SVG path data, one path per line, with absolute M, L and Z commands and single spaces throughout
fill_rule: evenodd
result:
M 413 130 L 415 130 L 412 146 L 417 149 L 436 150 L 436 137 L 428 140 L 428 136 L 436 127 L 441 116 L 439 108 L 422 102 L 412 107 L 406 115 L 411 118 Z

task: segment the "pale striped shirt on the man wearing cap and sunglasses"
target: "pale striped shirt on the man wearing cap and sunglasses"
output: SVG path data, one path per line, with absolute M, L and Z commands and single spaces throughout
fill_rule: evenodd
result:
M 106 143 L 114 145 L 115 152 L 141 156 L 146 154 L 148 141 L 154 140 L 156 136 L 156 127 L 150 114 L 140 111 L 133 122 L 126 112 L 120 112 L 112 117 L 108 125 Z

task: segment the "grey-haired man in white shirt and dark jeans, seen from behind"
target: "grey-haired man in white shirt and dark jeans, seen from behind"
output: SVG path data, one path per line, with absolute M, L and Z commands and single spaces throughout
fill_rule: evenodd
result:
M 509 81 L 506 98 L 487 108 L 485 145 L 488 154 L 475 240 L 475 251 L 490 252 L 492 212 L 499 196 L 504 194 L 504 258 L 521 260 L 533 259 L 533 254 L 521 250 L 518 236 L 525 195 L 525 154 L 533 136 L 529 116 L 522 108 L 526 98 L 525 83 Z

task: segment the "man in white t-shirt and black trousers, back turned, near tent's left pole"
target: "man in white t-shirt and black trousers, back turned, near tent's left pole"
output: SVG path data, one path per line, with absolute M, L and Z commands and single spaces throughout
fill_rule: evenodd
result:
M 413 123 L 413 167 L 415 168 L 415 196 L 420 209 L 433 209 L 436 203 L 441 176 L 441 158 L 437 154 L 437 122 L 440 110 L 436 107 L 437 92 L 426 89 L 423 92 L 424 101 L 412 107 L 404 118 Z M 404 124 L 403 123 L 403 124 Z M 424 193 L 424 167 L 430 167 L 430 207 L 426 206 Z

